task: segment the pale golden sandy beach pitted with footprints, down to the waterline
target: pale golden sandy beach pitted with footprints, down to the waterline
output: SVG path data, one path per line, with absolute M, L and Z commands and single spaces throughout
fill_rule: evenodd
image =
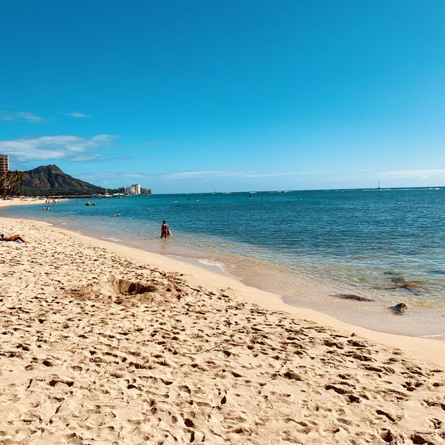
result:
M 0 218 L 0 444 L 443 444 L 445 343 Z

